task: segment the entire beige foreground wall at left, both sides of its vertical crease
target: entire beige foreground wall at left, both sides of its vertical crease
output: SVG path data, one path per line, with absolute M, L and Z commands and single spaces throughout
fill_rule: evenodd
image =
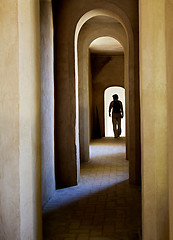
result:
M 41 239 L 39 2 L 0 4 L 0 238 Z

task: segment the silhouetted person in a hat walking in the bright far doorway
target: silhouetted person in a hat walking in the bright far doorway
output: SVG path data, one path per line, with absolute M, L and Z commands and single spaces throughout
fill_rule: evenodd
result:
M 114 94 L 112 97 L 114 100 L 109 105 L 109 117 L 111 117 L 112 110 L 114 137 L 117 138 L 121 135 L 121 118 L 124 117 L 123 104 L 118 100 L 117 94 Z

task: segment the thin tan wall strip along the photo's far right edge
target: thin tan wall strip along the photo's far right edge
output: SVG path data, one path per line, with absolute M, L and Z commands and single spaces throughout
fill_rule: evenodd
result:
M 165 37 L 166 37 L 166 76 L 167 76 L 167 117 L 168 117 L 168 179 L 169 179 L 169 239 L 173 239 L 173 104 L 172 104 L 172 89 L 173 89 L 173 51 L 172 38 L 173 38 L 173 2 L 170 0 L 165 1 Z

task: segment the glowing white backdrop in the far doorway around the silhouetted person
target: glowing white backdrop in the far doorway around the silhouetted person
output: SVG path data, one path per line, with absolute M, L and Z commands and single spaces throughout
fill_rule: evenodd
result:
M 105 116 L 105 137 L 114 137 L 112 116 L 109 117 L 109 104 L 113 100 L 112 95 L 118 94 L 119 100 L 123 104 L 124 118 L 121 119 L 121 137 L 125 137 L 125 89 L 122 87 L 109 87 L 104 92 L 104 116 Z

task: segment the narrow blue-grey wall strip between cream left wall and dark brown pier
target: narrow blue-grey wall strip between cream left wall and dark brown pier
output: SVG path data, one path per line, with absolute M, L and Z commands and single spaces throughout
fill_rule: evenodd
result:
M 54 67 L 51 1 L 40 2 L 41 24 L 41 155 L 42 204 L 55 192 L 54 174 Z

